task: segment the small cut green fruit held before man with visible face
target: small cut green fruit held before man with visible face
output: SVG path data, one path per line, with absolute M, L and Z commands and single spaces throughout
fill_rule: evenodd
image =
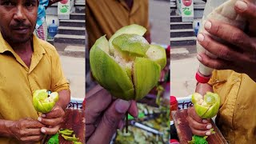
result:
M 47 90 L 35 90 L 33 94 L 34 109 L 43 114 L 49 113 L 58 101 L 58 93 L 53 92 L 48 97 Z

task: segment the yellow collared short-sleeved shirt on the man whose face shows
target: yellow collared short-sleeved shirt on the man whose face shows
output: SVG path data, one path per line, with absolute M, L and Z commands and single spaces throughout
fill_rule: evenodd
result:
M 33 47 L 29 68 L 0 33 L 0 119 L 37 119 L 38 112 L 32 104 L 35 90 L 69 90 L 54 46 L 34 36 Z M 0 136 L 0 143 L 18 142 Z

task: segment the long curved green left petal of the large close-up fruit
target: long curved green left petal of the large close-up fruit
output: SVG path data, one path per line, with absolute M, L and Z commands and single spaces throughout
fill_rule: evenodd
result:
M 99 38 L 90 50 L 90 68 L 94 78 L 116 98 L 133 98 L 134 86 L 131 79 L 109 54 L 100 46 L 107 40 Z

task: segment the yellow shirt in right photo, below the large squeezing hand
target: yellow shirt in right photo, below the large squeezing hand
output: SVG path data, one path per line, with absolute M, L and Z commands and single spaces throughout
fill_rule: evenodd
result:
M 233 70 L 214 70 L 209 83 L 221 97 L 216 124 L 227 142 L 256 143 L 256 82 Z

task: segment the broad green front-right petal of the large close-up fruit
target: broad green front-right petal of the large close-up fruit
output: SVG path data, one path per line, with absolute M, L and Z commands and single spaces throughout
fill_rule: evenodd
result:
M 147 58 L 136 58 L 134 62 L 134 87 L 136 100 L 143 98 L 157 85 L 160 66 Z

